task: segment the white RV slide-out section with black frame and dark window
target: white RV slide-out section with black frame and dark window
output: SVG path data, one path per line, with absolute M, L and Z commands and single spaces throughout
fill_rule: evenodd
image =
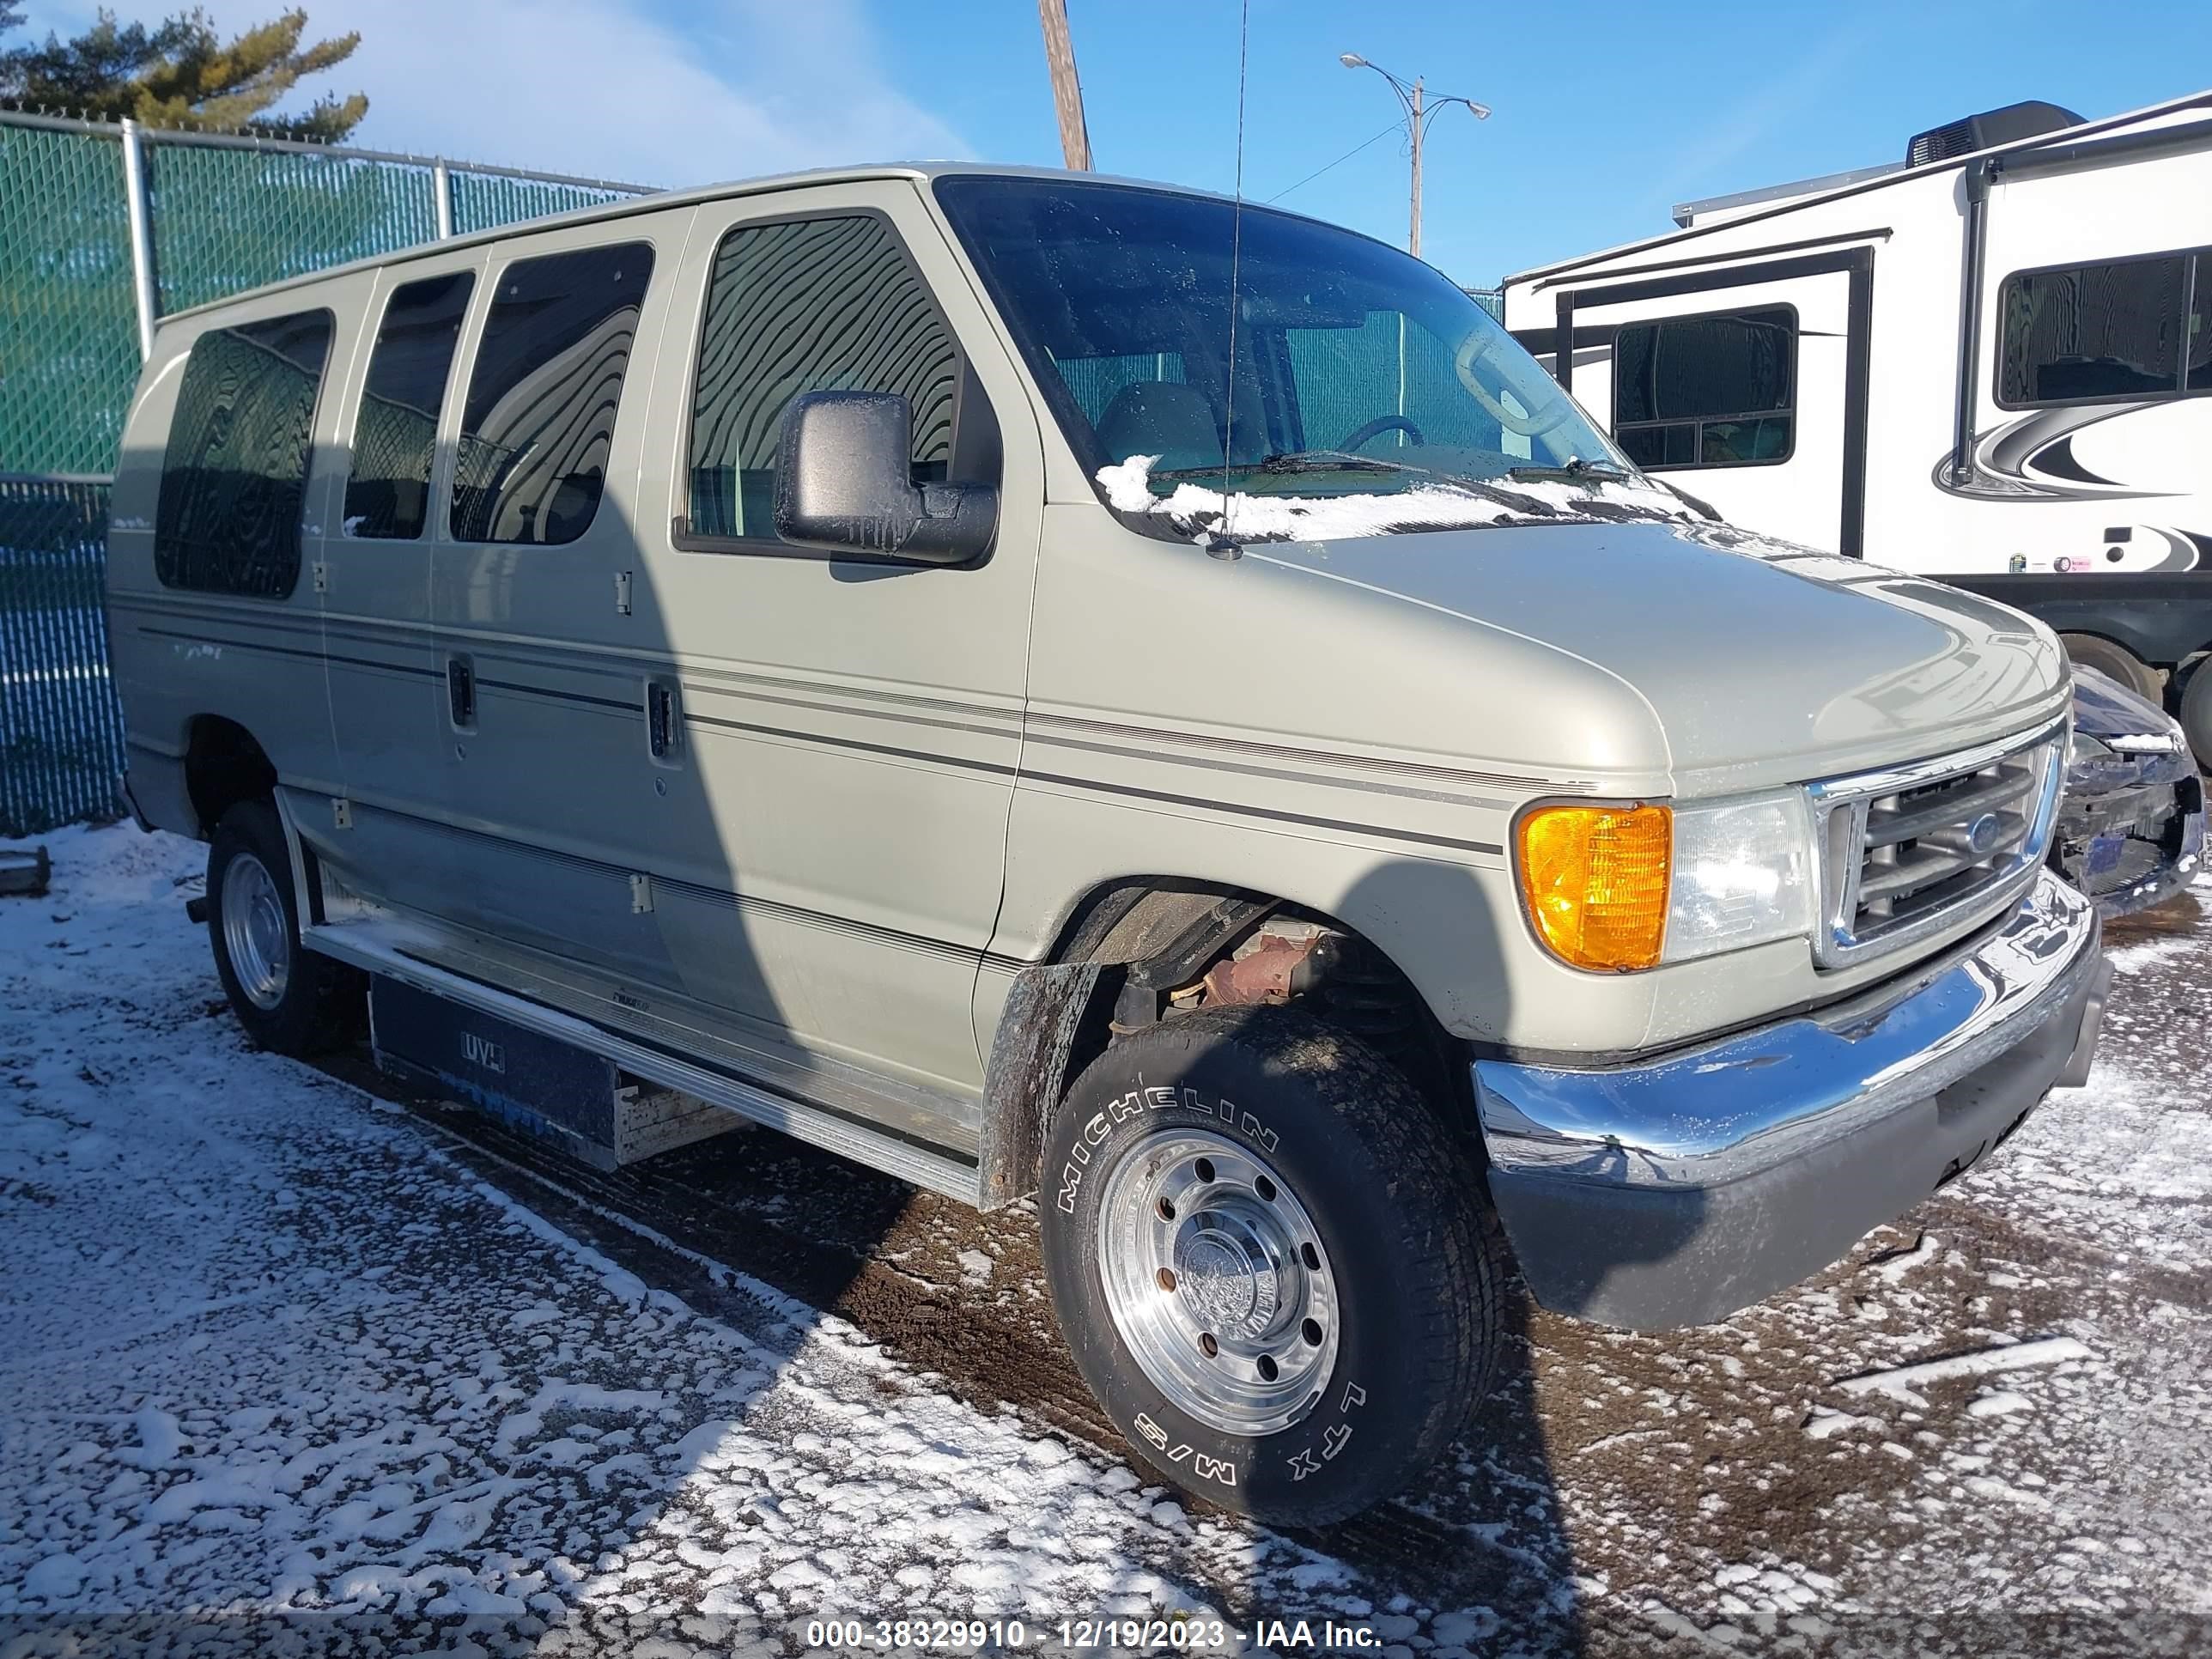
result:
M 1559 376 L 1630 460 L 1728 522 L 1860 555 L 1867 248 L 1557 294 Z

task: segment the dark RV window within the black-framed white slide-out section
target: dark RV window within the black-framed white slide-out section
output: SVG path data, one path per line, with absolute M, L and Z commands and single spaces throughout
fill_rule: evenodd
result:
M 1624 323 L 1613 341 L 1613 438 L 1652 469 L 1790 460 L 1796 334 L 1790 305 Z

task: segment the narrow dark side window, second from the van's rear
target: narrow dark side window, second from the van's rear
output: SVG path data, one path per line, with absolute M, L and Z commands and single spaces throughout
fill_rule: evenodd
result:
M 392 290 L 369 352 L 345 480 L 345 533 L 411 542 L 429 520 L 438 409 L 460 343 L 476 272 L 456 270 Z

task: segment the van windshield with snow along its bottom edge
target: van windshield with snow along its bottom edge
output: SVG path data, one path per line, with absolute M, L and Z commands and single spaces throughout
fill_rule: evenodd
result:
M 1674 515 L 1442 272 L 1349 230 L 1068 179 L 936 181 L 1102 498 L 1183 535 Z M 1230 305 L 1234 265 L 1237 303 Z M 1292 509 L 1292 511 L 1285 511 Z M 1641 515 L 1641 513 L 1639 513 Z

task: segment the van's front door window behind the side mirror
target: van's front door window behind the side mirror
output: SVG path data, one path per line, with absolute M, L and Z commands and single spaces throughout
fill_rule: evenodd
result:
M 883 219 L 739 226 L 699 332 L 688 533 L 776 540 L 776 438 L 801 392 L 902 394 L 914 480 L 942 482 L 958 389 L 951 332 Z

